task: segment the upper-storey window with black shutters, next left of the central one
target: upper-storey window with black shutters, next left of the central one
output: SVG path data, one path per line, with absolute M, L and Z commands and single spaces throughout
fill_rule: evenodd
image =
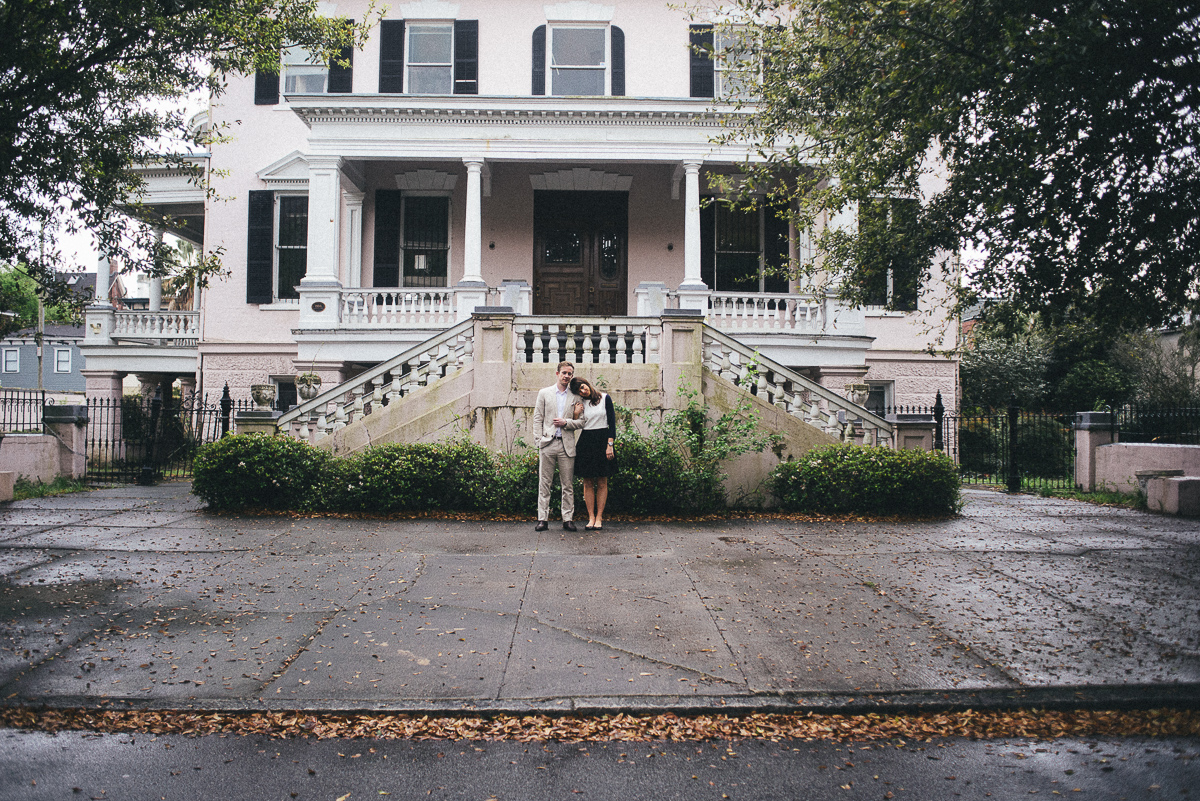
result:
M 380 22 L 379 91 L 478 95 L 479 20 Z

